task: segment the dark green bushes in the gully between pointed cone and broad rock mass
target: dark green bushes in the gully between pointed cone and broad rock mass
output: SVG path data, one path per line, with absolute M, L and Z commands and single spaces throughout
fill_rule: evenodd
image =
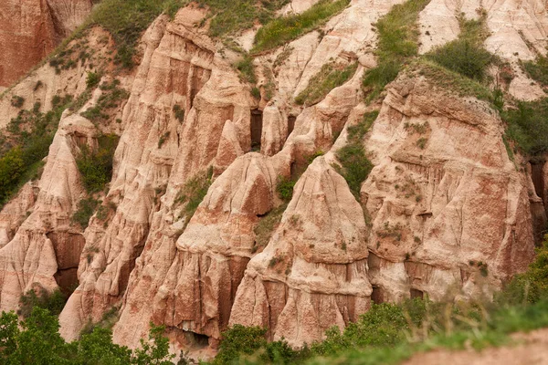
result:
M 346 180 L 348 187 L 358 201 L 360 200 L 362 183 L 373 169 L 373 164 L 365 156 L 364 136 L 373 125 L 378 114 L 378 111 L 365 113 L 363 120 L 355 126 L 349 127 L 348 143 L 335 153 L 341 164 L 341 166 L 335 168 Z

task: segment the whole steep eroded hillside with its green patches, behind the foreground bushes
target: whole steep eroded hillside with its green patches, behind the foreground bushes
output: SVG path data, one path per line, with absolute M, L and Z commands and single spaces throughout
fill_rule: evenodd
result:
M 91 6 L 12 3 L 0 85 Z M 60 290 L 65 339 L 201 356 L 492 297 L 547 222 L 547 31 L 532 0 L 103 0 L 0 96 L 0 310 Z

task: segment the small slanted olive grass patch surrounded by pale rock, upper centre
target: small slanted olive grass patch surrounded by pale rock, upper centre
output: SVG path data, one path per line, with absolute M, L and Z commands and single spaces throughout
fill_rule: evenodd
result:
M 313 105 L 320 102 L 332 89 L 352 78 L 357 68 L 357 62 L 350 65 L 334 62 L 323 65 L 320 72 L 311 78 L 306 89 L 295 98 L 295 102 L 300 105 Z

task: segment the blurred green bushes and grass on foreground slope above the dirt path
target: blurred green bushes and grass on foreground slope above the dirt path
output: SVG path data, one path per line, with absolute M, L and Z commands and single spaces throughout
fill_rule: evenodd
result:
M 471 265 L 471 264 L 470 264 Z M 234 326 L 224 332 L 216 363 L 223 364 L 396 364 L 416 352 L 437 348 L 483 349 L 511 342 L 509 334 L 548 326 L 548 235 L 530 268 L 495 300 L 374 304 L 342 332 L 290 349 L 284 339 L 267 343 L 266 330 Z

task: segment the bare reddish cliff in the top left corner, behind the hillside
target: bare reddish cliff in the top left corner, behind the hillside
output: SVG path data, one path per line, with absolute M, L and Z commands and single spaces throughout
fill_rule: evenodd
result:
M 90 14 L 91 0 L 6 0 L 0 4 L 0 86 L 46 57 Z

